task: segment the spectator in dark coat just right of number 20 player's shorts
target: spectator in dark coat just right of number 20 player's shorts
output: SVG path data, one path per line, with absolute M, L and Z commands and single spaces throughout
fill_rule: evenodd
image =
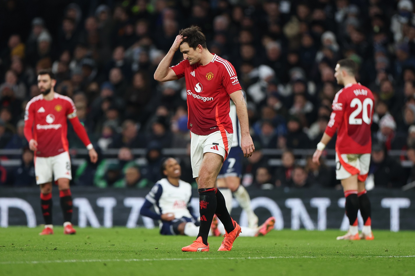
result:
M 382 144 L 372 146 L 369 175 L 373 175 L 376 187 L 399 188 L 405 184 L 405 173 L 400 163 L 388 156 Z

